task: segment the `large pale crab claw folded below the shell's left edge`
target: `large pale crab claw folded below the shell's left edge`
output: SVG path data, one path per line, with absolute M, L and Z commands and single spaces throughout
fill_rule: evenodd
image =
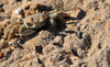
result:
M 20 30 L 19 30 L 19 34 L 22 36 L 28 36 L 33 34 L 35 31 L 34 30 L 28 30 L 25 25 L 21 25 Z

